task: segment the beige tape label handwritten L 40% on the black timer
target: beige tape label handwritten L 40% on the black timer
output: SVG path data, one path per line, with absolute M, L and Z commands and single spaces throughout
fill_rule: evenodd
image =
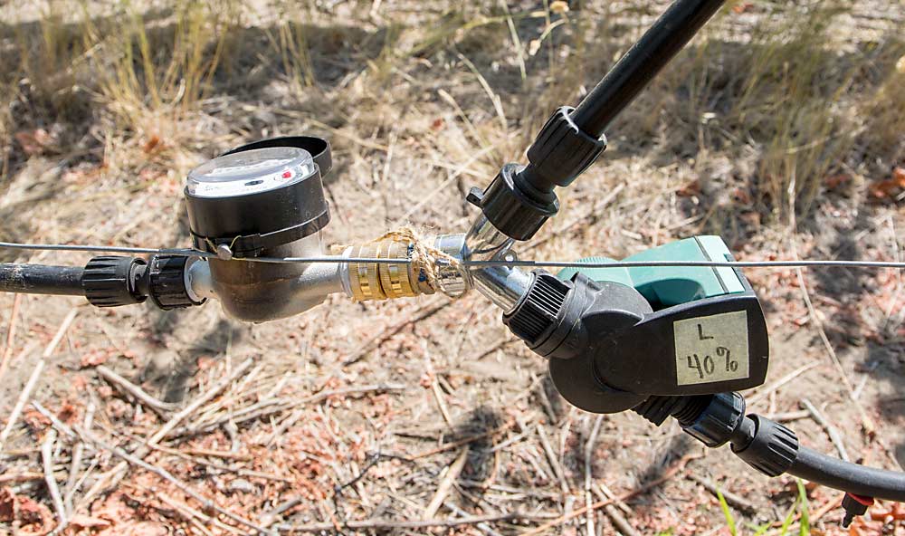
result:
M 672 322 L 678 385 L 748 378 L 748 311 Z

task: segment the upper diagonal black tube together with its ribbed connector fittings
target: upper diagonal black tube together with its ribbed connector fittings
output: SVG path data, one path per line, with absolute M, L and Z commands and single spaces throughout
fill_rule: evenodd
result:
M 528 149 L 528 166 L 507 164 L 468 200 L 504 235 L 529 240 L 556 215 L 567 187 L 606 147 L 604 130 L 691 40 L 723 0 L 676 0 L 576 109 L 556 110 Z

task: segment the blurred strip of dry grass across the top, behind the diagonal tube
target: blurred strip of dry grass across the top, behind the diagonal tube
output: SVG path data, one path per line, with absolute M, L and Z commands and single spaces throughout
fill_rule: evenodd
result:
M 490 95 L 481 108 L 498 120 L 461 110 L 470 135 L 491 143 L 516 134 L 487 152 L 496 166 L 520 158 L 548 110 L 574 104 L 664 5 L 18 4 L 3 7 L 0 23 L 3 183 L 30 148 L 41 150 L 34 143 L 71 164 L 178 166 L 186 151 L 248 135 L 230 122 L 243 102 L 322 121 L 321 107 L 348 120 L 410 98 L 394 93 L 400 77 L 442 89 L 438 62 L 462 63 Z M 905 147 L 902 5 L 728 4 L 614 124 L 606 158 L 720 162 L 757 220 L 773 222 L 785 221 L 789 206 L 806 213 L 826 188 L 853 186 L 837 183 L 889 176 Z M 373 99 L 344 87 L 349 74 Z M 280 92 L 269 92 L 277 80 Z M 443 100 L 443 91 L 430 98 Z

